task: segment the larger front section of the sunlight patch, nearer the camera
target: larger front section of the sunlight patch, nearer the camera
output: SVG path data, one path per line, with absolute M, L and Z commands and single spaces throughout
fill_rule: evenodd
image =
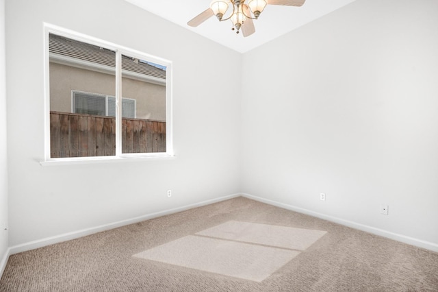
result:
M 298 254 L 294 250 L 190 235 L 135 256 L 261 282 Z

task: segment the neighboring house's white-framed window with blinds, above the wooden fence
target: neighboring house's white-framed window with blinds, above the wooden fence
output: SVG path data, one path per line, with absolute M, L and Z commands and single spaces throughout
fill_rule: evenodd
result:
M 72 91 L 72 112 L 116 117 L 116 97 Z M 136 118 L 136 99 L 122 98 L 122 117 Z

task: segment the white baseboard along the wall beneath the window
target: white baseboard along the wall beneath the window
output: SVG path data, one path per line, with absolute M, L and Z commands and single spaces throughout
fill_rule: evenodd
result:
M 60 243 L 63 241 L 69 241 L 71 239 L 78 239 L 79 237 L 83 237 L 83 236 L 87 236 L 90 234 L 94 234 L 97 232 L 102 232 L 105 230 L 110 230 L 113 228 L 118 228 L 118 227 L 122 227 L 122 226 L 127 226 L 129 224 L 133 224 L 133 223 L 138 223 L 141 221 L 145 221 L 145 220 L 149 220 L 149 219 L 153 219 L 153 218 L 157 218 L 157 217 L 161 217 L 164 215 L 170 215 L 173 213 L 177 213 L 177 212 L 181 212 L 184 210 L 189 210 L 192 208 L 197 208 L 197 207 L 201 207 L 201 206 L 205 206 L 205 205 L 209 205 L 209 204 L 214 204 L 217 202 L 221 202 L 227 199 L 232 199 L 233 197 L 239 197 L 241 196 L 240 193 L 238 194 L 233 194 L 233 195 L 227 195 L 224 197 L 219 197 L 216 199 L 209 199 L 203 202 L 198 202 L 195 204 L 190 204 L 190 205 L 186 205 L 186 206 L 181 206 L 178 208 L 172 208 L 172 209 L 168 209 L 168 210 L 163 210 L 163 211 L 159 211 L 159 212 L 154 212 L 151 214 L 146 214 L 146 215 L 142 215 L 140 217 L 134 217 L 131 219 L 126 219 L 126 220 L 122 220 L 122 221 L 117 221 L 114 223 L 108 223 L 105 225 L 101 225 L 101 226 L 96 226 L 93 228 L 87 228 L 87 229 L 83 229 L 83 230 L 77 230 L 75 232 L 68 232 L 68 233 L 64 233 L 64 234 L 60 234 L 60 235 L 56 235 L 56 236 L 51 236 L 51 237 L 47 237 L 45 239 L 38 239 L 37 241 L 30 241 L 28 243 L 22 243 L 20 245 L 14 245 L 12 247 L 9 248 L 8 250 L 8 256 L 9 254 L 18 254 L 19 252 L 26 252 L 28 250 L 35 250 L 36 248 L 39 247 L 44 247 L 47 245 L 52 245 L 55 243 Z M 4 258 L 3 258 L 4 260 Z M 8 259 L 6 258 L 6 261 Z M 3 261 L 2 261 L 2 265 L 3 265 Z

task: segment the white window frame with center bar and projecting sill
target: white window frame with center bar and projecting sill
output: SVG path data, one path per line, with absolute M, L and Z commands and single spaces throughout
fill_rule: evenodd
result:
M 116 51 L 116 155 L 115 156 L 88 156 L 75 158 L 51 158 L 50 156 L 50 54 L 49 54 L 49 34 L 57 34 L 72 38 L 81 42 L 86 42 L 91 45 L 105 47 L 112 51 Z M 166 152 L 153 153 L 122 153 L 122 107 L 118 106 L 122 98 L 122 55 L 131 56 L 140 60 L 146 60 L 155 64 L 166 66 Z M 113 162 L 113 161 L 134 161 L 149 160 L 150 158 L 172 158 L 173 153 L 173 134 L 172 134 L 172 62 L 155 56 L 151 56 L 141 51 L 136 51 L 116 45 L 112 42 L 107 42 L 99 38 L 87 36 L 73 32 L 69 29 L 57 27 L 49 23 L 44 23 L 44 160 L 40 161 L 40 165 L 70 165 L 77 163 L 94 163 L 94 162 Z

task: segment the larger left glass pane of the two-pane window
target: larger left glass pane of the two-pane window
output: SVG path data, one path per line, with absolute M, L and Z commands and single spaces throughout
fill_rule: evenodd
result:
M 49 56 L 51 158 L 114 156 L 107 97 L 116 96 L 116 53 L 49 34 Z

